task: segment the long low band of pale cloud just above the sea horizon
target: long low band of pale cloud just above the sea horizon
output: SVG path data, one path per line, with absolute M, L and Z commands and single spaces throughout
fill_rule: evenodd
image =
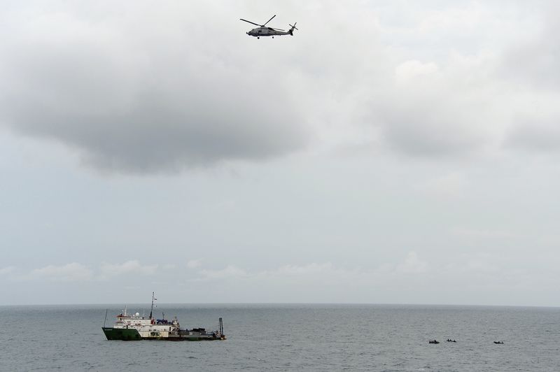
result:
M 165 288 L 174 287 L 174 294 L 194 294 L 200 301 L 232 302 L 442 303 L 444 295 L 444 303 L 464 303 L 463 292 L 456 290 L 462 288 L 478 294 L 473 298 L 481 303 L 486 297 L 491 299 L 496 291 L 527 286 L 526 280 L 533 287 L 547 285 L 551 289 L 554 288 L 551 283 L 558 281 L 556 274 L 551 276 L 552 271 L 531 274 L 523 266 L 511 267 L 511 262 L 500 255 L 479 253 L 443 258 L 428 264 L 416 251 L 409 251 L 400 262 L 369 262 L 365 268 L 309 262 L 248 270 L 230 264 L 223 269 L 195 269 L 197 276 L 188 270 L 174 270 L 172 275 L 167 275 L 164 270 L 134 261 L 104 264 L 94 271 L 77 263 L 50 265 L 19 277 L 14 276 L 12 269 L 7 271 L 13 276 L 8 280 L 29 282 L 34 287 L 46 282 L 85 281 L 90 286 L 102 286 L 102 280 L 109 278 L 104 270 L 110 269 L 115 276 L 130 277 L 134 273 L 143 278 L 149 276 L 151 282 L 164 287 L 160 289 L 164 293 L 168 292 Z M 193 286 L 193 282 L 197 284 Z M 132 287 L 135 294 L 141 293 L 140 287 Z M 165 297 L 172 299 L 172 292 Z

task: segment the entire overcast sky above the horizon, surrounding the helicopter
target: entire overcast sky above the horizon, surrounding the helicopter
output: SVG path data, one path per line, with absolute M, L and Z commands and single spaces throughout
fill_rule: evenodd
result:
M 0 7 L 0 305 L 560 306 L 556 1 Z

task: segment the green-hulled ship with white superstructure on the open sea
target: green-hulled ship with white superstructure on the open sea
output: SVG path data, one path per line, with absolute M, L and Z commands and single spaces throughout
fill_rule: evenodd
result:
M 152 306 L 150 316 L 146 317 L 140 313 L 132 315 L 127 313 L 127 308 L 116 316 L 113 327 L 105 327 L 107 312 L 105 312 L 105 322 L 103 333 L 107 340 L 121 341 L 141 341 L 141 340 L 163 340 L 163 341 L 212 341 L 225 340 L 223 333 L 223 320 L 219 318 L 218 329 L 207 331 L 204 328 L 183 329 L 179 320 L 175 316 L 171 321 L 165 319 L 155 319 L 153 314 L 154 293 L 152 292 Z

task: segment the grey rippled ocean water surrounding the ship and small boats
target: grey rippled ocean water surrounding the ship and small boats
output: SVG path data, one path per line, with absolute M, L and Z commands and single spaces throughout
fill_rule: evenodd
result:
M 0 371 L 560 371 L 560 308 L 160 304 L 182 327 L 223 317 L 227 341 L 177 343 L 106 341 L 105 308 L 123 306 L 0 306 Z

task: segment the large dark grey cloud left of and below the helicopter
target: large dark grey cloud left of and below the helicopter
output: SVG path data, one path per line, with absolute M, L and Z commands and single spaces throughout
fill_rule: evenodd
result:
M 235 56 L 225 62 L 230 50 L 204 48 L 184 29 L 137 36 L 56 12 L 12 27 L 0 44 L 0 81 L 10 87 L 0 122 L 61 141 L 86 164 L 177 171 L 275 157 L 307 141 L 287 81 Z

